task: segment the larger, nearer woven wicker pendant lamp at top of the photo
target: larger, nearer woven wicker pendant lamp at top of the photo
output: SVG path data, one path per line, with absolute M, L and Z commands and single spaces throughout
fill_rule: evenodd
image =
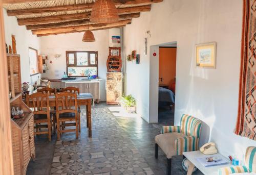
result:
M 98 23 L 118 22 L 119 16 L 116 5 L 112 0 L 97 0 L 93 5 L 90 20 Z

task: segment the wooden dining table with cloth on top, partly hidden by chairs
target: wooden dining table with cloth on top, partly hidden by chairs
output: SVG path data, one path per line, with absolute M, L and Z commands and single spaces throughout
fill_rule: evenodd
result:
M 56 107 L 55 100 L 56 100 L 55 95 L 49 95 L 49 106 L 50 107 Z M 72 101 L 70 103 L 72 105 Z M 73 100 L 73 103 L 74 103 L 74 100 Z M 29 104 L 27 104 L 27 105 L 30 108 L 33 108 L 32 101 L 30 101 Z M 89 137 L 92 137 L 92 105 L 93 105 L 93 95 L 91 93 L 77 94 L 77 106 L 86 106 L 86 118 L 87 118 L 87 128 L 88 128 L 88 136 Z

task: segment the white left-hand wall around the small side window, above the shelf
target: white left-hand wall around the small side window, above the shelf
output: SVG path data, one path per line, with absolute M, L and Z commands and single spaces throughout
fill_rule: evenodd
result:
M 22 82 L 30 82 L 34 84 L 37 76 L 40 74 L 30 77 L 30 66 L 29 66 L 29 47 L 35 48 L 40 54 L 40 42 L 36 35 L 32 35 L 31 31 L 27 31 L 25 26 L 18 26 L 16 17 L 7 16 L 6 10 L 4 9 L 4 23 L 5 23 L 5 39 L 8 45 L 12 47 L 11 35 L 15 35 L 17 54 L 20 55 L 20 67 L 22 72 Z

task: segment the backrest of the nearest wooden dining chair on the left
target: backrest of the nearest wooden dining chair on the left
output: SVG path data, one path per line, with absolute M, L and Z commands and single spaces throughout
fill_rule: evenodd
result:
M 49 108 L 49 94 L 44 94 L 41 92 L 36 92 L 31 95 L 26 95 L 26 103 L 29 106 L 29 103 L 33 104 L 33 113 L 34 114 L 46 114 L 50 115 Z

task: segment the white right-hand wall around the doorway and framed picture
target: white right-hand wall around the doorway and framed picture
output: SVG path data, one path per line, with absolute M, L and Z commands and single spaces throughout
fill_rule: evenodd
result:
M 144 33 L 151 45 L 177 41 L 175 124 L 183 113 L 203 120 L 200 143 L 214 141 L 225 156 L 245 153 L 255 141 L 233 134 L 238 111 L 242 32 L 241 0 L 165 0 L 133 19 L 123 30 L 123 52 L 136 49 L 141 63 L 126 62 L 126 93 L 138 99 L 137 112 L 150 118 L 150 79 L 158 71 L 155 57 L 144 51 Z M 217 68 L 195 68 L 195 44 L 217 42 Z M 155 65 L 154 65 L 155 64 Z M 155 82 L 151 82 L 155 81 Z M 154 92 L 153 92 L 154 93 Z M 154 94 L 153 94 L 154 96 Z M 154 99 L 153 99 L 154 100 Z M 157 99 L 155 99 L 157 100 Z

